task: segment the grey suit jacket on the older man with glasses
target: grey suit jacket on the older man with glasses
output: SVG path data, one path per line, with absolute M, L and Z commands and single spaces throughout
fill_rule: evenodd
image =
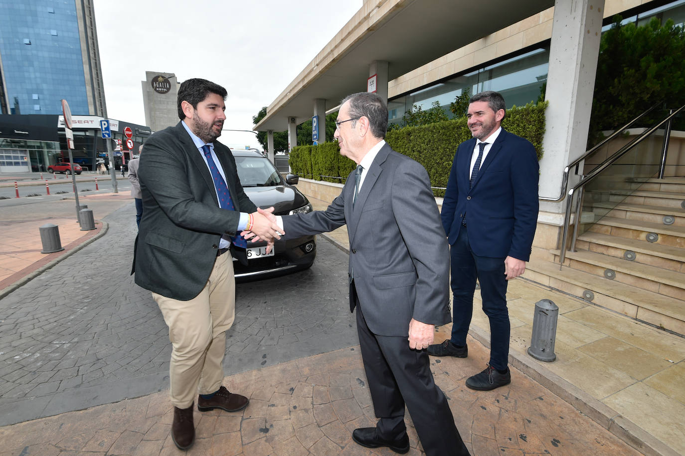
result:
M 364 172 L 354 208 L 351 173 L 325 211 L 284 216 L 286 237 L 347 224 L 349 274 L 373 333 L 407 336 L 412 317 L 449 323 L 449 248 L 428 173 L 387 144 Z

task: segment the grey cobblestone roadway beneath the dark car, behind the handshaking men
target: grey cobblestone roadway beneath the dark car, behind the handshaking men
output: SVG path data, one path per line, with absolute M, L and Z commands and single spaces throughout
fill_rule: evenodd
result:
M 0 425 L 166 389 L 171 345 L 129 275 L 132 204 L 110 231 L 0 300 Z M 311 269 L 238 285 L 226 374 L 357 344 L 347 255 L 324 239 Z

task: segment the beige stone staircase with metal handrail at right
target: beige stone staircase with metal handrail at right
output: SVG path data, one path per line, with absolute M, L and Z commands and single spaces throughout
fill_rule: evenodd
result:
M 525 278 L 685 335 L 685 178 L 587 192 L 576 252 L 538 255 Z M 594 193 L 594 194 L 592 194 Z M 587 201 L 593 202 L 587 202 Z

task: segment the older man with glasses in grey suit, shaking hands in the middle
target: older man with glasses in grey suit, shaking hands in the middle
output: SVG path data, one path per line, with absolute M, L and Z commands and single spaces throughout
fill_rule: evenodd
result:
M 375 93 L 343 99 L 336 126 L 340 154 L 357 170 L 325 211 L 280 221 L 287 237 L 347 224 L 350 311 L 379 418 L 352 438 L 407 453 L 406 405 L 427 455 L 468 455 L 425 351 L 434 325 L 450 321 L 449 250 L 428 173 L 385 143 L 388 109 Z

